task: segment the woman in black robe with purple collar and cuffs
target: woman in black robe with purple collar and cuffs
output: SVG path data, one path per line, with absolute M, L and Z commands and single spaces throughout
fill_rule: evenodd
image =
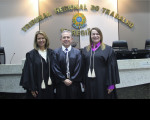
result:
M 90 31 L 90 45 L 82 51 L 86 99 L 117 99 L 115 85 L 120 83 L 112 47 L 103 43 L 99 28 Z

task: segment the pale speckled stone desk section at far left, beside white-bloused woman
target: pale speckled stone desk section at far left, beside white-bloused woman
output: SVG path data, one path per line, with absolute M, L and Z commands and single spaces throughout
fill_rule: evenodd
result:
M 23 64 L 1 64 L 0 65 L 0 92 L 25 93 L 19 86 Z

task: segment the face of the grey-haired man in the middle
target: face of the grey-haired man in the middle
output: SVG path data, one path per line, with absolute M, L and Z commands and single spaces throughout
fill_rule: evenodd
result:
M 69 32 L 64 32 L 60 41 L 62 42 L 63 46 L 68 48 L 71 45 L 73 38 L 71 37 Z

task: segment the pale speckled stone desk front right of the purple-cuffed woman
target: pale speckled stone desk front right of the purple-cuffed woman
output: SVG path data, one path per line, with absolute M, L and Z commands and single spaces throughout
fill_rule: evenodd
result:
M 116 88 L 150 83 L 150 59 L 117 60 L 120 84 Z

